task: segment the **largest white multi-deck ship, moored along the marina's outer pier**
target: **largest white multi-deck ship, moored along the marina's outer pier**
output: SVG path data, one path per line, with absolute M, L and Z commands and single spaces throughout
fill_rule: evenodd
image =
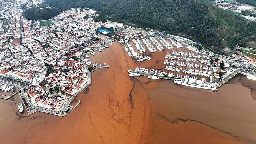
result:
M 185 85 L 185 86 L 190 86 L 190 87 L 196 87 L 196 88 L 218 91 L 218 88 L 217 88 L 216 85 L 214 85 L 212 83 L 206 83 L 206 82 L 203 82 L 201 80 L 196 80 L 196 79 L 193 79 L 193 78 L 175 79 L 174 83 Z

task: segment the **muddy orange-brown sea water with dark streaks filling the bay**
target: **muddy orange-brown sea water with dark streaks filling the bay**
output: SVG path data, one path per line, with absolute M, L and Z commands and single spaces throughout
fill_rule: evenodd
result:
M 0 99 L 0 143 L 238 144 L 256 143 L 256 82 L 237 75 L 218 92 L 170 80 L 129 77 L 136 67 L 163 68 L 166 52 L 138 63 L 124 46 L 90 56 L 110 68 L 92 73 L 92 84 L 67 117 L 20 114 L 19 95 Z

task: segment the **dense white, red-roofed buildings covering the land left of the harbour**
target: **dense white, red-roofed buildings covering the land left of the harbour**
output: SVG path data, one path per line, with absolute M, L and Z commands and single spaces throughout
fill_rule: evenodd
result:
M 84 19 L 95 14 L 88 8 L 64 11 L 54 17 L 54 24 L 41 27 L 31 20 L 20 21 L 18 9 L 10 9 L 8 14 L 11 25 L 0 36 L 0 76 L 30 83 L 26 96 L 35 106 L 64 107 L 88 83 L 87 69 L 73 57 L 79 58 L 91 47 L 106 42 L 105 39 L 88 41 L 92 38 L 89 32 L 96 31 L 103 23 Z M 86 49 L 79 48 L 84 42 Z M 46 92 L 55 86 L 60 95 Z

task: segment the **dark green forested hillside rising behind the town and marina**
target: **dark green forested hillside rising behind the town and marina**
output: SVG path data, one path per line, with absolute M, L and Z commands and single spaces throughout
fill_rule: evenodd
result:
M 46 6 L 52 9 L 26 10 L 26 18 L 49 19 L 71 7 L 84 6 L 99 11 L 98 20 L 106 14 L 113 21 L 187 36 L 221 53 L 256 33 L 255 23 L 221 10 L 208 0 L 46 0 L 40 7 Z

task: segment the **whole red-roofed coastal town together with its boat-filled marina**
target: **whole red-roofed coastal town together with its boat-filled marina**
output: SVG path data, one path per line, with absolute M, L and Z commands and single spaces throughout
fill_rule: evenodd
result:
M 85 7 L 63 11 L 51 20 L 32 21 L 24 18 L 20 7 L 41 0 L 0 3 L 1 90 L 16 87 L 13 91 L 19 93 L 28 114 L 67 116 L 77 106 L 71 106 L 71 100 L 91 84 L 92 71 L 109 67 L 90 56 L 104 52 L 115 40 L 137 63 L 164 53 L 161 69 L 137 67 L 128 71 L 130 76 L 163 78 L 214 91 L 237 73 L 256 80 L 256 59 L 246 54 L 248 48 L 237 46 L 234 55 L 217 55 L 184 37 L 109 20 L 97 22 L 96 11 Z

